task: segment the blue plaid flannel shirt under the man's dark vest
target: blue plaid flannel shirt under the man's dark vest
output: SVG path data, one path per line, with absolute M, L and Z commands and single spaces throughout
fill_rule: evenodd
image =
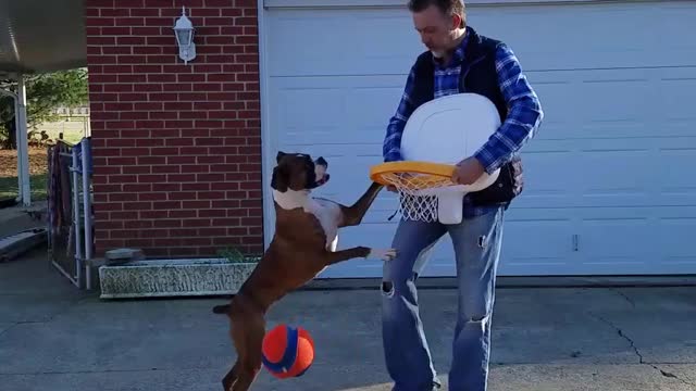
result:
M 469 35 L 464 37 L 461 45 L 456 49 L 447 66 L 443 66 L 443 64 L 434 61 L 435 98 L 459 93 L 460 71 L 461 64 L 465 60 L 464 48 L 468 38 Z M 534 136 L 535 130 L 544 117 L 538 97 L 527 83 L 517 56 L 508 46 L 498 46 L 495 63 L 498 74 L 498 85 L 508 104 L 508 116 L 493 137 L 474 153 L 474 156 L 481 162 L 487 173 L 493 173 L 508 162 L 510 157 Z M 414 70 L 411 68 L 397 111 L 389 119 L 387 126 L 383 144 L 385 162 L 401 160 L 401 134 L 406 122 L 414 110 L 410 100 L 414 78 Z M 493 209 L 474 207 L 468 202 L 468 199 L 464 198 L 464 216 L 476 216 L 490 210 Z

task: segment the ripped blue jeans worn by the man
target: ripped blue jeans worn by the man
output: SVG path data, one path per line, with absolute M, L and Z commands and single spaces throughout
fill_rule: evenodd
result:
M 384 263 L 382 285 L 382 333 L 393 391 L 431 391 L 440 384 L 419 314 L 415 280 L 445 232 L 455 247 L 459 289 L 449 390 L 486 390 L 502 215 L 500 207 L 458 225 L 399 223 L 393 242 L 399 254 Z M 439 319 L 431 321 L 437 329 Z

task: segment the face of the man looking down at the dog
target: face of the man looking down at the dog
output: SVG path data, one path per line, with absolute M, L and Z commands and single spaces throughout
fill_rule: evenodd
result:
M 451 49 L 459 21 L 458 15 L 448 16 L 435 5 L 413 12 L 413 26 L 421 35 L 423 45 L 436 58 L 442 58 Z

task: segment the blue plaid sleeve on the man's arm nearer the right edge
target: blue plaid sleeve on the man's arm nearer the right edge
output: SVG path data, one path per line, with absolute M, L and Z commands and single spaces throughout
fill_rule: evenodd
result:
M 512 50 L 501 43 L 496 51 L 498 85 L 508 104 L 508 116 L 474 154 L 488 174 L 505 164 L 538 128 L 544 112 Z

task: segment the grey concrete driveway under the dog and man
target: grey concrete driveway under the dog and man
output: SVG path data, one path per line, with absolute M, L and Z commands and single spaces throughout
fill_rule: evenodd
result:
M 420 300 L 446 380 L 455 291 Z M 221 302 L 100 301 L 59 276 L 44 249 L 0 264 L 0 389 L 221 390 L 235 356 L 226 319 L 210 312 Z M 390 390 L 377 287 L 297 292 L 269 321 L 310 330 L 316 361 L 298 379 L 262 371 L 252 390 Z M 693 391 L 695 325 L 696 287 L 501 288 L 489 390 Z

